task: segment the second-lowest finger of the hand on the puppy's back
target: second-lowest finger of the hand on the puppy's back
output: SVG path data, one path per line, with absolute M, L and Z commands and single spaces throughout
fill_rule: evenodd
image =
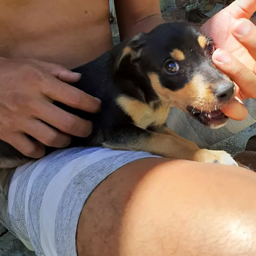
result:
M 46 146 L 62 148 L 68 146 L 71 141 L 68 135 L 54 130 L 40 120 L 23 120 L 19 126 L 21 131 L 29 134 Z

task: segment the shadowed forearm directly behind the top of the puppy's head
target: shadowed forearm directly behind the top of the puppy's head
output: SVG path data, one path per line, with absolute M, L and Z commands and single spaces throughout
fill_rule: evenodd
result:
M 138 33 L 147 33 L 164 22 L 161 15 L 151 15 L 145 19 L 139 20 L 135 25 L 125 29 L 125 31 L 120 31 L 120 39 L 123 41 L 123 39 L 130 38 Z

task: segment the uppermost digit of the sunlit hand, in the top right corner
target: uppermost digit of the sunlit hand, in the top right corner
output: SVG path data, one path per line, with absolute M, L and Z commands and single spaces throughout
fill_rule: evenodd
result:
M 256 11 L 256 0 L 236 0 L 225 9 L 235 19 L 251 19 L 252 15 Z

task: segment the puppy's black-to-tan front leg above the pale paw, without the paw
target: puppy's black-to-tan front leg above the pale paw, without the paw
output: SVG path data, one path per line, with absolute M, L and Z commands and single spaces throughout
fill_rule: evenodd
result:
M 147 131 L 134 125 L 113 127 L 103 146 L 117 150 L 147 151 L 163 157 L 193 160 L 200 148 L 180 136 Z

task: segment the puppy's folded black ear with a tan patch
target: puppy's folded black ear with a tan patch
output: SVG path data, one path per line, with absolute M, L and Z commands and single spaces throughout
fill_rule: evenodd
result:
M 122 63 L 132 63 L 138 60 L 142 54 L 142 48 L 146 44 L 147 34 L 140 33 L 135 35 L 130 41 L 117 47 L 114 53 L 114 70 L 117 71 Z M 121 49 L 120 49 L 121 48 Z

